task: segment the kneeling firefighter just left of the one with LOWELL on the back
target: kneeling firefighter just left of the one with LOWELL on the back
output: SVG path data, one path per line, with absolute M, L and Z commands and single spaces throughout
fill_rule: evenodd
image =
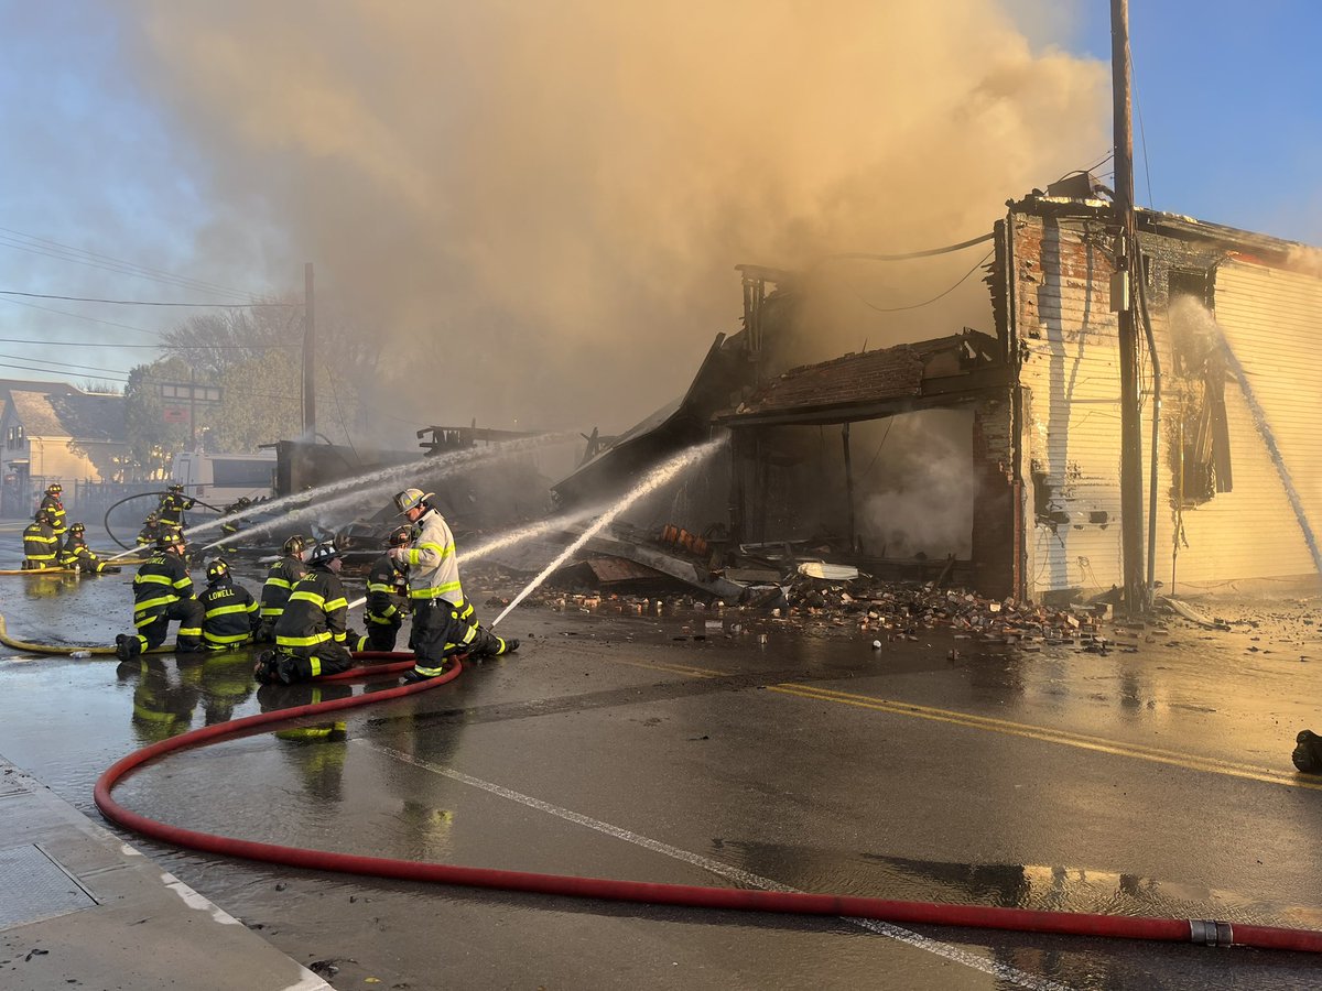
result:
M 181 654 L 204 650 L 202 604 L 193 597 L 193 579 L 184 564 L 184 538 L 165 530 L 156 538 L 156 552 L 134 577 L 134 625 L 137 633 L 115 637 L 115 655 L 130 661 L 165 642 L 169 621 L 178 620 L 175 650 Z

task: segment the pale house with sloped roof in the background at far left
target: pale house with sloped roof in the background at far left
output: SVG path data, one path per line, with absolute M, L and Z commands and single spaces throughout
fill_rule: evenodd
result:
M 30 515 L 52 482 L 73 507 L 78 484 L 123 481 L 127 460 L 124 396 L 0 379 L 0 514 Z

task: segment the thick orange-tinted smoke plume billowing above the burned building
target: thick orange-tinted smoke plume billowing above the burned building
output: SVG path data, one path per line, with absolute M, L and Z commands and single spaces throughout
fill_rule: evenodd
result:
M 208 251 L 315 262 L 419 423 L 627 427 L 738 329 L 735 264 L 960 240 L 1109 143 L 1105 66 L 994 0 L 144 0 L 126 34 L 227 205 Z M 821 349 L 990 329 L 977 276 L 880 312 L 978 258 L 833 268 Z

